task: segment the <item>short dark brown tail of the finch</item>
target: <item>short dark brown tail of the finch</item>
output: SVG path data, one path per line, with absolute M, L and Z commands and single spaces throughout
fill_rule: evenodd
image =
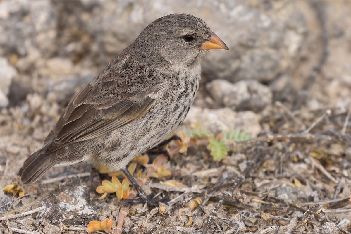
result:
M 42 150 L 33 153 L 24 162 L 18 174 L 24 184 L 34 183 L 39 180 L 50 168 L 56 163 L 50 155 L 45 154 Z

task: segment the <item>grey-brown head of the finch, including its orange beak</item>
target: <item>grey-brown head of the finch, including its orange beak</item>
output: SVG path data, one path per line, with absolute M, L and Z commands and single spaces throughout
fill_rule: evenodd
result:
M 143 60 L 164 59 L 179 66 L 199 65 L 209 49 L 229 49 L 204 20 L 190 14 L 171 14 L 153 21 L 133 45 Z

